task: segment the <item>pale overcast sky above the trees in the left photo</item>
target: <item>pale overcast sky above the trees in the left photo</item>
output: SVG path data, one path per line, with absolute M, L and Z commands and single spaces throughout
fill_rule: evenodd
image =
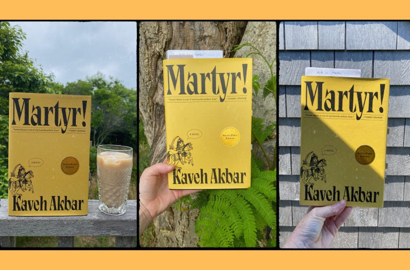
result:
M 98 71 L 137 89 L 137 23 L 128 21 L 19 21 L 23 50 L 62 84 Z

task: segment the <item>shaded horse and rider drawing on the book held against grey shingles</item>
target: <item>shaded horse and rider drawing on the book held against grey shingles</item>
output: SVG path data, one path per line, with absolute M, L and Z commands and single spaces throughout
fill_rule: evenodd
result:
M 308 164 L 309 157 L 310 162 Z M 318 156 L 315 153 L 309 152 L 300 167 L 300 180 L 302 180 L 304 184 L 308 185 L 314 184 L 312 180 L 321 180 L 326 183 L 325 169 L 323 169 L 326 165 L 325 159 L 318 160 Z

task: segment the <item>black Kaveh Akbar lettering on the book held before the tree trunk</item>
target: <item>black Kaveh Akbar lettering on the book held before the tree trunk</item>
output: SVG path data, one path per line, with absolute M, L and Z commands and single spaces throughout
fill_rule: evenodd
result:
M 174 184 L 235 184 L 246 181 L 246 172 L 231 172 L 228 168 L 213 168 L 208 173 L 200 169 L 198 173 L 182 173 L 181 169 L 173 171 Z

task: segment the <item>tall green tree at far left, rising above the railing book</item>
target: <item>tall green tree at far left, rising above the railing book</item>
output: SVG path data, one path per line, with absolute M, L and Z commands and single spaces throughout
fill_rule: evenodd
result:
M 35 67 L 28 53 L 21 52 L 25 34 L 20 26 L 0 21 L 0 114 L 8 115 L 9 92 L 53 93 L 53 75 Z

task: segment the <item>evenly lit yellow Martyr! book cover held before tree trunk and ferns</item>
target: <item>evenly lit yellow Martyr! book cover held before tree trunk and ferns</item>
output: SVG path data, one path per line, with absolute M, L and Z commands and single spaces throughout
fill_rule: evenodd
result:
M 171 189 L 251 184 L 252 59 L 163 61 Z

